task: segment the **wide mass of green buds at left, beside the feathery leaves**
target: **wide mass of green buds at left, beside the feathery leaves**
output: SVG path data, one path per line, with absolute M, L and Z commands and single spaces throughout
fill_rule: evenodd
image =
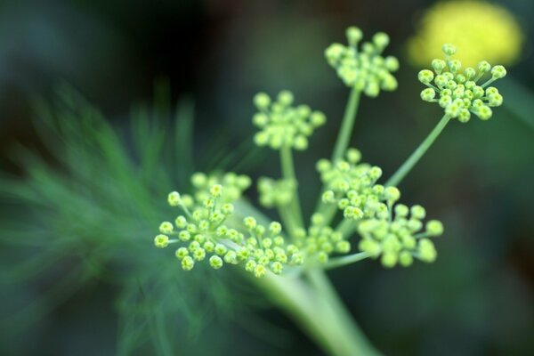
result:
M 198 200 L 184 199 L 188 196 L 175 191 L 170 193 L 169 204 L 182 206 L 183 214 L 174 223 L 161 223 L 160 233 L 154 239 L 154 245 L 159 248 L 169 244 L 180 246 L 175 255 L 183 270 L 190 271 L 203 261 L 215 270 L 224 264 L 239 264 L 259 278 L 267 271 L 279 274 L 286 265 L 303 263 L 299 248 L 286 244 L 280 223 L 265 227 L 248 216 L 239 226 L 233 226 L 232 202 L 250 184 L 245 176 L 225 174 L 222 178 L 225 185 L 215 183 L 209 187 L 207 182 L 214 182 L 214 178 L 205 174 L 195 174 L 191 181 L 198 189 L 194 195 Z

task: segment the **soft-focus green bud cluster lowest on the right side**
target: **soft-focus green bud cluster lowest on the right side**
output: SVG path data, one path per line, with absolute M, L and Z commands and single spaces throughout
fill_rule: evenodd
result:
M 360 222 L 358 232 L 362 239 L 359 248 L 375 258 L 380 257 L 384 267 L 388 268 L 397 263 L 408 267 L 414 258 L 432 263 L 437 253 L 433 241 L 428 238 L 440 236 L 443 225 L 437 220 L 424 225 L 423 219 L 423 206 L 390 206 L 387 216 Z

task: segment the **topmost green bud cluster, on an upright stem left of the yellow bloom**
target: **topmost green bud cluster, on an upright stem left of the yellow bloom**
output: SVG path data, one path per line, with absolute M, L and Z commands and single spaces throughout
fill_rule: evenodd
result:
M 392 72 L 399 69 L 399 61 L 393 56 L 382 57 L 384 48 L 389 44 L 389 36 L 376 33 L 372 42 L 360 45 L 363 34 L 360 28 L 346 30 L 348 45 L 330 44 L 325 51 L 328 64 L 336 69 L 337 76 L 349 87 L 376 97 L 381 90 L 391 92 L 397 89 L 397 80 Z

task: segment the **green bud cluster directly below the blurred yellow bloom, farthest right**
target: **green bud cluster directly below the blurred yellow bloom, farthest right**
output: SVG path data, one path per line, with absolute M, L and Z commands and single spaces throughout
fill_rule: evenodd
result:
M 465 123 L 471 114 L 487 120 L 492 115 L 493 107 L 503 103 L 503 96 L 494 86 L 488 86 L 497 79 L 506 76 L 503 66 L 491 67 L 487 61 L 481 61 L 476 69 L 467 67 L 462 69 L 462 63 L 450 57 L 456 53 L 452 44 L 444 44 L 445 61 L 433 60 L 433 70 L 424 69 L 419 72 L 421 83 L 428 86 L 421 92 L 421 99 L 437 102 L 449 117 L 457 117 Z M 483 84 L 477 84 L 482 77 L 490 74 L 490 78 Z

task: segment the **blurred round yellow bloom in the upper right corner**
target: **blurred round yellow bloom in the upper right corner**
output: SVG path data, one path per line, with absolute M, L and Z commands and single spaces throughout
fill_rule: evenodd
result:
M 409 60 L 428 65 L 441 57 L 442 44 L 457 45 L 457 59 L 474 67 L 485 59 L 491 64 L 512 64 L 521 53 L 522 31 L 505 8 L 483 1 L 447 1 L 430 7 L 408 43 Z

